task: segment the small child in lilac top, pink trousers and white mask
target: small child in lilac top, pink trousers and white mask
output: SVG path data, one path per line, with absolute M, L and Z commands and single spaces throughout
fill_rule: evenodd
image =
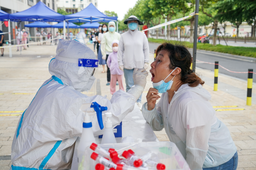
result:
M 116 92 L 116 81 L 119 83 L 119 89 L 124 91 L 123 87 L 123 74 L 124 72 L 119 69 L 117 61 L 117 51 L 118 51 L 118 40 L 112 42 L 112 50 L 107 59 L 107 65 L 110 69 L 111 80 L 110 80 L 110 93 L 114 94 Z

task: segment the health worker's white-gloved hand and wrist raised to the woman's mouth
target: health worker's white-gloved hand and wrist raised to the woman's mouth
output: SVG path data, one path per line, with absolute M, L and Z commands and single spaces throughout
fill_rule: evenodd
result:
M 132 86 L 127 93 L 133 95 L 136 98 L 136 101 L 140 97 L 141 93 L 144 91 L 147 83 L 147 76 L 148 72 L 144 68 L 134 68 L 132 76 L 134 86 Z

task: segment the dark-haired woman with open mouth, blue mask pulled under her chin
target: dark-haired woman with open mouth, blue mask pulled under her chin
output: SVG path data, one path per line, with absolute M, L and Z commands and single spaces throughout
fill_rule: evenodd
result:
M 156 55 L 150 69 L 154 88 L 142 107 L 145 120 L 154 131 L 165 129 L 191 170 L 235 170 L 235 143 L 216 117 L 204 81 L 190 69 L 190 52 L 183 45 L 164 43 Z

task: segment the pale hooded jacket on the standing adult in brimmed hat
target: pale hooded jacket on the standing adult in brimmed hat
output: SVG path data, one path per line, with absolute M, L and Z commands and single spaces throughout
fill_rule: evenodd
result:
M 125 69 L 143 68 L 144 63 L 149 63 L 148 39 L 137 28 L 134 31 L 129 29 L 119 40 L 118 65 Z

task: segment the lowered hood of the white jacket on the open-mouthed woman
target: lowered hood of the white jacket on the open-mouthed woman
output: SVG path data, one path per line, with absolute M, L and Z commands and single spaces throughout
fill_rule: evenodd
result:
M 183 94 L 187 91 L 193 91 L 193 92 L 197 93 L 198 95 L 206 98 L 207 100 L 211 100 L 211 94 L 206 89 L 202 88 L 201 84 L 199 84 L 196 87 L 190 87 L 188 84 L 183 84 L 180 86 L 178 91 L 174 92 L 175 95 L 173 96 L 170 104 L 172 104 L 175 101 L 175 99 L 177 99 L 181 94 Z

